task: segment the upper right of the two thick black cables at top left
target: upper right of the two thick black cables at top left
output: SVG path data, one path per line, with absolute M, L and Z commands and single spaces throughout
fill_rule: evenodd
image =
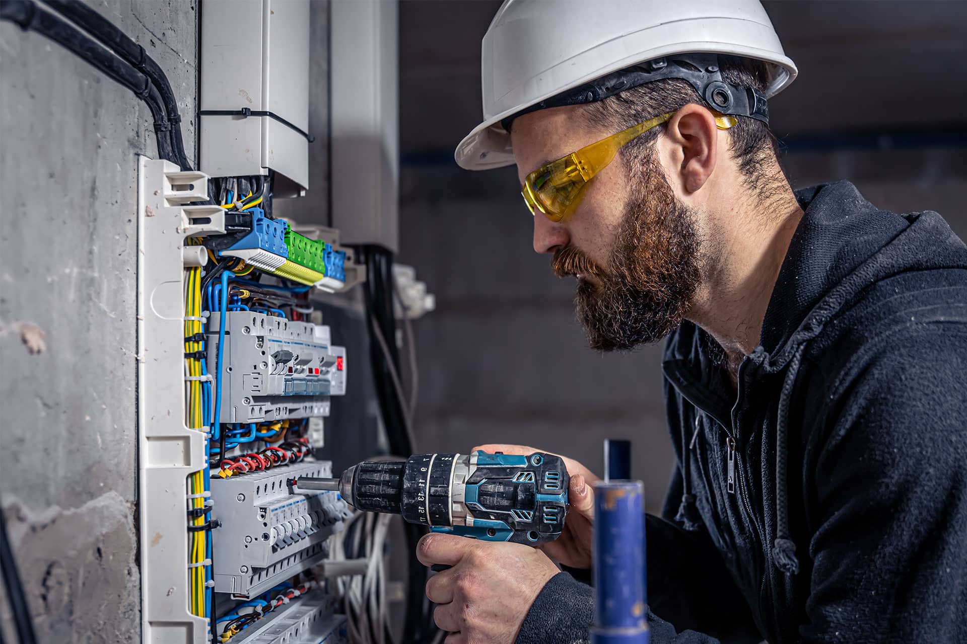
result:
M 53 7 L 61 14 L 71 18 L 75 23 L 86 29 L 91 35 L 99 39 L 103 44 L 114 51 L 115 54 L 130 63 L 135 70 L 140 71 L 151 79 L 151 82 L 161 94 L 164 102 L 164 110 L 167 112 L 167 121 L 171 126 L 169 138 L 171 146 L 182 170 L 191 170 L 188 156 L 185 154 L 185 142 L 182 139 L 181 115 L 178 113 L 178 101 L 171 90 L 171 83 L 158 63 L 147 54 L 140 44 L 132 39 L 123 31 L 118 29 L 114 23 L 105 18 L 102 14 L 94 11 L 80 0 L 44 0 L 47 5 Z

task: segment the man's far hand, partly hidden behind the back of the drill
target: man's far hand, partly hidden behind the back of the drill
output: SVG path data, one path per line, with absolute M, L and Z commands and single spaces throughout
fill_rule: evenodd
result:
M 519 454 L 527 456 L 543 450 L 526 445 L 503 445 L 491 443 L 473 449 L 493 454 Z M 571 475 L 568 489 L 568 516 L 564 520 L 561 536 L 540 547 L 547 556 L 571 568 L 591 568 L 591 525 L 595 519 L 595 494 L 591 484 L 599 480 L 590 469 L 579 462 L 561 457 Z

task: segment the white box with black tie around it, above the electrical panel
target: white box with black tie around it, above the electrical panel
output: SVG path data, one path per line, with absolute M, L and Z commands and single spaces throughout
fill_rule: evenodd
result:
M 309 0 L 204 0 L 200 169 L 276 171 L 275 196 L 308 188 Z

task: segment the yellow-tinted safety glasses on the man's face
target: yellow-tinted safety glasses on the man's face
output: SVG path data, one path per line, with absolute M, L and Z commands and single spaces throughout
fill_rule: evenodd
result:
M 556 161 L 551 161 L 527 175 L 520 194 L 531 214 L 541 210 L 551 221 L 561 221 L 577 208 L 585 186 L 614 160 L 622 147 L 649 129 L 668 121 L 674 112 L 662 114 L 636 126 L 630 126 L 597 143 L 581 148 Z M 735 117 L 716 114 L 718 129 L 728 129 Z

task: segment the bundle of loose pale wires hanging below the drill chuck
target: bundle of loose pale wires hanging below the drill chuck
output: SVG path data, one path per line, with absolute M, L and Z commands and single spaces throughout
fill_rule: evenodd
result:
M 330 559 L 365 558 L 366 574 L 336 579 L 353 644 L 385 644 L 389 634 L 386 571 L 383 551 L 391 515 L 356 512 L 346 519 L 341 532 L 330 537 Z M 422 591 L 421 591 L 422 592 Z

